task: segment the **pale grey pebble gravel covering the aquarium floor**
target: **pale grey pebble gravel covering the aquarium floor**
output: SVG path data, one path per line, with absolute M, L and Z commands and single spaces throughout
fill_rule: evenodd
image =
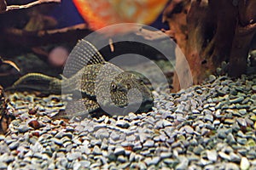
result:
M 60 96 L 10 94 L 17 119 L 0 135 L 0 168 L 256 169 L 256 76 L 166 89 L 154 111 L 81 122 L 50 119 Z

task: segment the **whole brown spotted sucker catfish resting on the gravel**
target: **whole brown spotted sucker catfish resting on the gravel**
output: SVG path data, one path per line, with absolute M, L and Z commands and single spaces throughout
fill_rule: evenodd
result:
M 142 77 L 105 61 L 90 42 L 81 40 L 73 48 L 69 61 L 72 64 L 67 64 L 64 72 L 71 72 L 70 77 L 63 77 L 61 80 L 39 73 L 29 73 L 20 77 L 13 88 L 27 87 L 55 94 L 73 94 L 73 101 L 68 102 L 66 107 L 69 116 L 86 115 L 102 107 L 107 107 L 108 112 L 113 111 L 108 113 L 110 115 L 123 115 L 124 113 L 119 113 L 119 108 L 137 103 L 141 105 L 139 111 L 151 109 L 153 96 Z M 84 66 L 79 68 L 76 64 Z M 36 85 L 38 82 L 43 86 Z M 130 110 L 125 111 L 125 114 L 128 111 Z

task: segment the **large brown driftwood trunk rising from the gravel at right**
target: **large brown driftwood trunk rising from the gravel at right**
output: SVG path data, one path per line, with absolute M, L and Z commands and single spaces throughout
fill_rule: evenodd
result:
M 164 12 L 177 45 L 189 62 L 195 84 L 214 73 L 223 61 L 230 61 L 230 76 L 247 69 L 247 54 L 255 34 L 256 2 L 253 0 L 172 0 Z M 177 68 L 183 61 L 177 58 Z M 175 76 L 174 90 L 187 80 Z

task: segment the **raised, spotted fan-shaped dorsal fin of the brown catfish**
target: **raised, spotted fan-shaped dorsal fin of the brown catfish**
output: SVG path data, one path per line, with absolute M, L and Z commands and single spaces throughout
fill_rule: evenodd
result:
M 94 45 L 86 40 L 80 40 L 69 54 L 64 71 L 64 77 L 72 77 L 86 65 L 104 64 L 102 54 Z

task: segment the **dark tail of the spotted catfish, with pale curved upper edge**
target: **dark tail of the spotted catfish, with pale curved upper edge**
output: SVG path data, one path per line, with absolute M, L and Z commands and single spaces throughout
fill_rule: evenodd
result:
M 61 80 L 40 73 L 28 73 L 7 90 L 36 90 L 47 94 L 61 94 Z

